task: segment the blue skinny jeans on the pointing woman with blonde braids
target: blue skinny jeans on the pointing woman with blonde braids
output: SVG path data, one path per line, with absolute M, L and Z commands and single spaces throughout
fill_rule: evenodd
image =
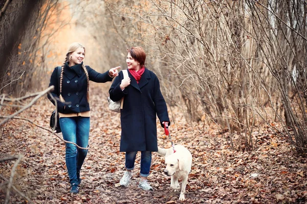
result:
M 80 147 L 89 146 L 90 117 L 61 117 L 60 127 L 64 140 L 74 142 Z M 65 145 L 65 162 L 69 181 L 71 185 L 78 184 L 77 173 L 80 175 L 87 149 L 78 149 L 76 145 L 71 143 L 65 143 Z

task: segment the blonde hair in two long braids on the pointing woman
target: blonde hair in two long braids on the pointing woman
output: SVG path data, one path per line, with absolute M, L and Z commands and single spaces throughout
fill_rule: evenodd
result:
M 85 47 L 83 45 L 81 45 L 80 43 L 78 42 L 74 42 L 72 43 L 69 48 L 68 48 L 68 51 L 67 51 L 67 54 L 66 54 L 66 57 L 65 57 L 65 60 L 64 60 L 64 63 L 62 64 L 62 69 L 61 69 L 61 77 L 60 77 L 60 100 L 62 102 L 64 102 L 64 98 L 62 96 L 62 80 L 63 80 L 63 73 L 64 73 L 64 65 L 66 62 L 69 62 L 69 55 L 73 52 L 75 52 L 77 49 L 79 48 L 83 48 L 84 49 L 84 56 L 85 56 Z M 87 98 L 87 101 L 90 101 L 90 96 L 89 96 L 89 86 L 90 86 L 90 79 L 89 79 L 89 73 L 87 73 L 87 70 L 84 66 L 84 64 L 82 64 L 82 69 L 86 75 L 86 79 L 87 79 L 87 93 L 86 93 L 86 98 Z

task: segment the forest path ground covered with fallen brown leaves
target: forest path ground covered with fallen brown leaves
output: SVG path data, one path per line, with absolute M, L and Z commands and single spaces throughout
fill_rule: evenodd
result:
M 186 200 L 169 188 L 170 177 L 164 175 L 164 159 L 153 152 L 148 177 L 153 191 L 138 188 L 140 155 L 128 188 L 119 187 L 124 171 L 124 153 L 119 152 L 119 114 L 107 108 L 109 84 L 91 84 L 90 146 L 82 167 L 80 193 L 69 194 L 70 185 L 65 166 L 65 145 L 46 130 L 23 120 L 10 120 L 0 130 L 0 158 L 23 155 L 14 185 L 34 203 L 305 203 L 307 202 L 306 159 L 269 127 L 255 130 L 258 136 L 250 152 L 232 150 L 229 136 L 220 134 L 216 126 L 186 121 L 182 111 L 171 107 L 170 134 L 175 144 L 186 146 L 192 153 Z M 41 98 L 20 114 L 48 127 L 53 106 Z M 169 109 L 170 110 L 170 109 Z M 3 107 L 8 115 L 15 109 Z M 133 121 L 131 121 L 133 125 Z M 278 124 L 276 124 L 278 125 Z M 61 136 L 61 134 L 59 134 Z M 233 137 L 234 144 L 238 137 Z M 171 147 L 168 136 L 158 125 L 158 144 Z M 0 163 L 0 174 L 9 179 L 15 161 Z M 0 203 L 4 203 L 6 187 L 0 178 Z M 10 203 L 27 203 L 11 191 Z

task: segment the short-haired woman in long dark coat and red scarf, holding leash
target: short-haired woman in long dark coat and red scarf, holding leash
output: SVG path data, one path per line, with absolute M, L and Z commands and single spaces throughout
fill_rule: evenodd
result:
M 135 167 L 137 151 L 141 151 L 139 188 L 153 190 L 147 182 L 151 166 L 151 152 L 158 151 L 157 116 L 161 126 L 170 124 L 167 106 L 155 73 L 145 67 L 146 54 L 142 47 L 127 49 L 128 78 L 122 71 L 109 89 L 109 97 L 118 101 L 124 97 L 121 109 L 120 151 L 125 152 L 126 171 L 120 180 L 127 187 Z

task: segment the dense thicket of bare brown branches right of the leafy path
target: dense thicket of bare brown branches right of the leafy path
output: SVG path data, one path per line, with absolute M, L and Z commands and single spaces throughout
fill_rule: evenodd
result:
M 242 134 L 243 149 L 253 148 L 251 134 L 262 121 L 283 123 L 283 134 L 305 148 L 303 5 L 105 1 L 120 39 L 151 54 L 147 65 L 162 79 L 168 104 L 182 107 L 190 120 L 205 118 Z

